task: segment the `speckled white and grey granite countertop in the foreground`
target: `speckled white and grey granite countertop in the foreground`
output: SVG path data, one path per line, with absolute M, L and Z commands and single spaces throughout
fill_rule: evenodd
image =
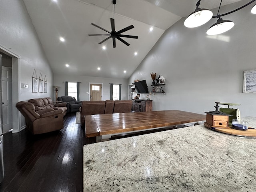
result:
M 256 138 L 198 125 L 85 145 L 84 192 L 97 191 L 255 192 Z

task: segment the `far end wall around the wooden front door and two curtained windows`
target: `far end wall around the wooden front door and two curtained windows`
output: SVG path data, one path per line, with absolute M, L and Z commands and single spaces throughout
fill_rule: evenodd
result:
M 121 86 L 121 99 L 128 99 L 128 81 L 127 79 L 116 78 L 100 78 L 100 77 L 88 77 L 88 76 L 67 76 L 61 74 L 54 74 L 54 86 L 60 86 L 58 88 L 58 96 L 65 95 L 65 81 L 68 82 L 81 82 L 80 83 L 80 101 L 89 101 L 89 83 L 102 84 L 102 100 L 110 99 L 110 83 L 122 84 Z M 52 88 L 52 90 L 55 90 Z M 55 99 L 55 96 L 52 97 Z

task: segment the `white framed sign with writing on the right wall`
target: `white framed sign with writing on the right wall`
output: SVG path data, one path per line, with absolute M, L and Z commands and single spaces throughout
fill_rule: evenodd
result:
M 256 93 L 256 69 L 244 71 L 244 93 Z

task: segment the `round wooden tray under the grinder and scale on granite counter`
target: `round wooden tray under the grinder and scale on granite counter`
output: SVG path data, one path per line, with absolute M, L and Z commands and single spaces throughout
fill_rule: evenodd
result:
M 204 122 L 204 126 L 211 130 L 218 131 L 221 133 L 230 134 L 230 135 L 242 136 L 242 137 L 256 137 L 256 129 L 253 129 L 250 127 L 248 128 L 248 130 L 242 131 L 242 130 L 233 129 L 231 127 L 228 127 L 228 128 L 213 127 L 210 124 L 208 124 L 207 122 Z

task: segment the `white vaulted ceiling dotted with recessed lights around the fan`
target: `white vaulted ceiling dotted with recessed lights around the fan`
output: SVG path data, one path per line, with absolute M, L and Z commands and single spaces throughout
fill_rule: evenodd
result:
M 107 34 L 91 23 L 111 31 L 112 0 L 23 1 L 54 74 L 128 78 L 164 31 L 193 12 L 198 0 L 116 0 L 116 31 L 133 25 L 123 34 L 138 36 L 123 38 L 130 46 L 116 40 L 116 48 L 111 38 L 98 44 L 107 36 L 88 36 Z M 224 0 L 222 5 L 238 1 Z M 202 0 L 200 7 L 219 4 L 220 0 Z

